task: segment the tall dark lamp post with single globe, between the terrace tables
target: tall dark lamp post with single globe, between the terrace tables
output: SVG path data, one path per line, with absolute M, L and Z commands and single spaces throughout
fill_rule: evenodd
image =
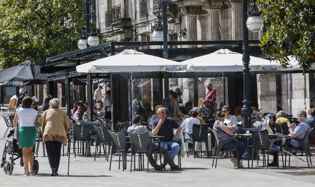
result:
M 243 127 L 250 128 L 250 99 L 249 99 L 249 54 L 248 54 L 248 30 L 250 31 L 260 31 L 264 26 L 263 20 L 260 18 L 261 12 L 258 10 L 255 5 L 255 1 L 253 0 L 253 6 L 251 7 L 248 14 L 247 19 L 247 0 L 242 1 L 242 9 L 243 9 L 243 86 L 244 86 L 244 100 L 242 107 L 243 114 Z

